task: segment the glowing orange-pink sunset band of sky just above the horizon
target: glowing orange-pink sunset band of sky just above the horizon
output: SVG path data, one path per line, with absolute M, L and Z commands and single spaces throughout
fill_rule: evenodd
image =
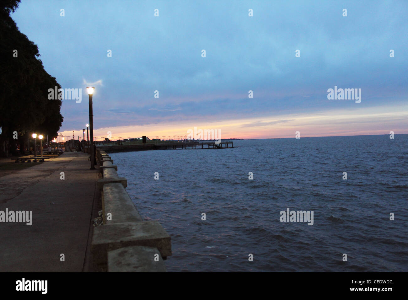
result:
M 370 134 L 408 133 L 407 107 L 375 107 L 350 110 L 333 110 L 310 114 L 287 114 L 264 118 L 225 120 L 220 122 L 163 122 L 144 126 L 118 126 L 94 129 L 94 140 L 101 141 L 111 132 L 110 140 L 147 136 L 150 139 L 186 138 L 187 131 L 197 129 L 220 130 L 221 138 L 292 138 L 295 131 L 301 137 L 352 136 Z M 95 125 L 94 125 L 95 127 Z M 72 130 L 62 135 L 72 135 Z M 82 129 L 75 131 L 82 138 Z M 86 137 L 85 137 L 86 138 Z

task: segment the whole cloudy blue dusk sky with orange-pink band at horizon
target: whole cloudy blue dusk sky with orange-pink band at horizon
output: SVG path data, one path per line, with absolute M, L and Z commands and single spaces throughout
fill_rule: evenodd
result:
M 82 139 L 93 86 L 95 139 L 117 140 L 408 133 L 407 15 L 386 0 L 22 0 L 12 18 L 62 88 L 82 89 L 60 133 Z M 361 102 L 328 99 L 335 86 Z

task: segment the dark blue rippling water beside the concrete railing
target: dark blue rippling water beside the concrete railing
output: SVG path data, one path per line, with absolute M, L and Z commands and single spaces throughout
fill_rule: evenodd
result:
M 407 154 L 408 135 L 384 135 L 111 156 L 141 216 L 171 236 L 168 271 L 408 271 Z M 280 222 L 287 208 L 314 224 Z

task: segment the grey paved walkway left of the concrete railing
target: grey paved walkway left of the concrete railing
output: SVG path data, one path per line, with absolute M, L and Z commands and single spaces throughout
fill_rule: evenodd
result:
M 97 180 L 97 170 L 89 168 L 88 154 L 65 152 L 0 178 L 0 213 L 33 211 L 31 226 L 0 222 L 1 272 L 88 271 Z

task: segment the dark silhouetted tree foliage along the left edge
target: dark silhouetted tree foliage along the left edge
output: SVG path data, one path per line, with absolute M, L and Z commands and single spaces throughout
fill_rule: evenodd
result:
M 2 0 L 0 4 L 0 153 L 3 155 L 5 142 L 12 146 L 21 144 L 33 132 L 51 139 L 63 121 L 61 100 L 48 99 L 48 89 L 60 88 L 60 84 L 44 70 L 37 45 L 19 31 L 10 16 L 19 3 L 20 0 Z M 14 131 L 18 140 L 13 139 Z

